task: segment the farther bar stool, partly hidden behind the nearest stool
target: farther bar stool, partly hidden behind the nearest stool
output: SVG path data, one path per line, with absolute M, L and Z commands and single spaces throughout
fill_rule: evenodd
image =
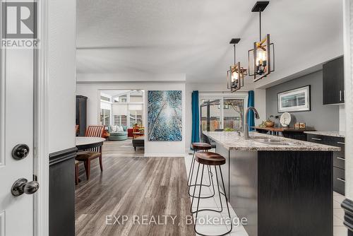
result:
M 191 143 L 191 146 L 193 148 L 193 160 L 191 161 L 191 165 L 190 165 L 190 169 L 189 169 L 189 177 L 188 177 L 188 187 L 189 187 L 188 194 L 189 194 L 189 196 L 191 196 L 191 194 L 190 194 L 191 187 L 196 188 L 196 186 L 200 186 L 200 184 L 196 184 L 196 183 L 191 184 L 192 179 L 193 179 L 193 169 L 194 169 L 194 165 L 195 165 L 195 153 L 197 151 L 208 152 L 208 150 L 210 150 L 212 148 L 212 146 L 208 143 Z M 210 187 L 212 184 L 213 194 L 211 196 L 199 196 L 201 199 L 208 199 L 210 197 L 215 196 L 215 186 L 213 185 L 213 173 L 211 172 L 209 166 L 208 166 L 208 180 L 209 180 L 209 184 L 203 184 L 203 186 Z

